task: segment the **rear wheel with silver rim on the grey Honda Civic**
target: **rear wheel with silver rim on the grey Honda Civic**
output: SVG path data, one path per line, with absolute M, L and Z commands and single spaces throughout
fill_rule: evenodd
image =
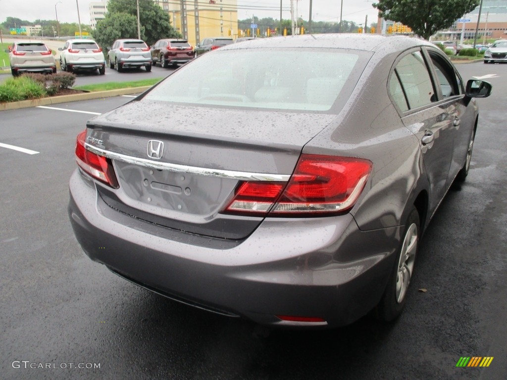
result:
M 412 206 L 387 287 L 375 308 L 376 317 L 382 321 L 394 320 L 402 314 L 405 307 L 407 291 L 414 273 L 414 264 L 419 248 L 420 223 L 419 212 Z

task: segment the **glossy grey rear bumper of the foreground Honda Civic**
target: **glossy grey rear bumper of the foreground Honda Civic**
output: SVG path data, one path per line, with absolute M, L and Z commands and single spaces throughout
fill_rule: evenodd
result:
M 378 303 L 394 264 L 399 228 L 361 232 L 349 214 L 266 220 L 247 239 L 226 241 L 121 214 L 78 171 L 69 187 L 70 222 L 92 260 L 170 298 L 261 324 L 298 324 L 276 315 L 349 324 Z

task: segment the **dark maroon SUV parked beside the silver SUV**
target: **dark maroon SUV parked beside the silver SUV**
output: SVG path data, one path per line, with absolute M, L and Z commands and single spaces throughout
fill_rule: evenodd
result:
M 160 63 L 162 67 L 173 67 L 187 63 L 194 58 L 194 48 L 187 40 L 165 39 L 159 40 L 152 47 L 153 64 Z

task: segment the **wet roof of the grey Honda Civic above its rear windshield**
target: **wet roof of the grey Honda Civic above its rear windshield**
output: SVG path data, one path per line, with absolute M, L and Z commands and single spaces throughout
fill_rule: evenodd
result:
M 324 48 L 363 50 L 369 52 L 383 51 L 387 54 L 389 52 L 397 52 L 417 46 L 427 46 L 438 49 L 435 45 L 426 40 L 408 36 L 367 33 L 330 33 L 255 39 L 247 44 L 247 46 L 242 44 L 233 44 L 224 46 L 221 50 L 254 48 Z

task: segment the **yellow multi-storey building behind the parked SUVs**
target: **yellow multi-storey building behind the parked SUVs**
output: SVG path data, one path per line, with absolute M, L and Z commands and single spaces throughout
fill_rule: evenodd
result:
M 237 0 L 154 1 L 169 14 L 171 25 L 194 47 L 207 37 L 228 37 L 229 30 L 231 37 L 237 37 Z

